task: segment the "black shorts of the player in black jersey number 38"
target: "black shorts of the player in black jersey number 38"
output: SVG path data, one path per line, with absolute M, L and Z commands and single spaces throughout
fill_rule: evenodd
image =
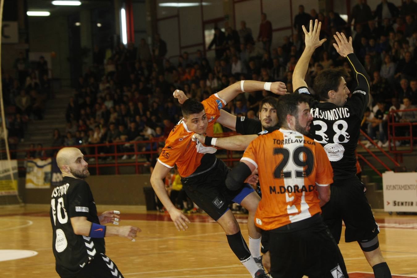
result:
M 379 233 L 364 184 L 357 177 L 332 183 L 330 200 L 322 207 L 322 218 L 337 243 L 342 233 L 342 219 L 346 226 L 345 242 L 370 240 Z

